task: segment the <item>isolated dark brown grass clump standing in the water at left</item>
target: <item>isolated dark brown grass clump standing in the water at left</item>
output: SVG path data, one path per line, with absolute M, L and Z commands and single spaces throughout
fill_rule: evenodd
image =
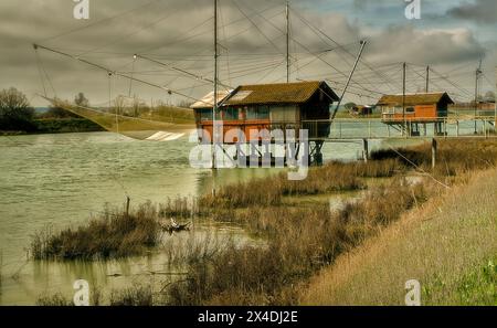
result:
M 34 260 L 94 260 L 140 254 L 160 239 L 157 210 L 142 204 L 134 213 L 106 210 L 77 229 L 54 232 L 50 226 L 34 234 Z

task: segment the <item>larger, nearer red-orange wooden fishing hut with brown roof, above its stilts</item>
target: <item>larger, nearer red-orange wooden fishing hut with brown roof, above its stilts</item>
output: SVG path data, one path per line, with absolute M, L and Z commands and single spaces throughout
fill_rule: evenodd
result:
M 326 138 L 330 129 L 330 106 L 338 100 L 337 94 L 325 82 L 318 81 L 242 85 L 232 92 L 218 93 L 215 119 L 222 120 L 224 136 L 232 129 L 240 129 L 246 141 L 251 141 L 253 131 L 294 129 L 298 136 L 298 129 L 314 128 L 315 125 L 306 124 L 306 120 L 328 120 L 317 130 L 309 130 L 309 136 Z M 191 106 L 198 129 L 210 136 L 213 102 L 213 93 L 210 93 Z

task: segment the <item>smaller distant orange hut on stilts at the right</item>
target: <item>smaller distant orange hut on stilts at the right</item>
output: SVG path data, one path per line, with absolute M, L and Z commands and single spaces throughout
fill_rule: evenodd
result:
M 381 109 L 385 124 L 408 124 L 406 129 L 412 134 L 419 133 L 419 124 L 434 124 L 435 131 L 440 134 L 448 115 L 448 105 L 453 104 L 447 93 L 384 95 L 377 108 Z

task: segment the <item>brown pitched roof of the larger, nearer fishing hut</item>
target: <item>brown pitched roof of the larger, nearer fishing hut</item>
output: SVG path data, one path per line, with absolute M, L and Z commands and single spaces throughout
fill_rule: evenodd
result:
M 313 81 L 242 85 L 230 95 L 224 105 L 304 104 L 318 91 L 322 91 L 330 100 L 339 99 L 325 82 Z

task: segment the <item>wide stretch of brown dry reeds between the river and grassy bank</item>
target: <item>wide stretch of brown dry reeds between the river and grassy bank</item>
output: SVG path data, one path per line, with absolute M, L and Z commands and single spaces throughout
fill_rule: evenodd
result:
M 421 211 L 427 199 L 445 193 L 443 184 L 464 183 L 470 171 L 495 167 L 497 144 L 441 141 L 440 165 L 433 172 L 430 145 L 380 151 L 373 158 L 367 165 L 330 163 L 314 169 L 302 182 L 286 181 L 279 176 L 224 188 L 218 195 L 221 200 L 203 198 L 203 207 L 215 207 L 211 212 L 214 219 L 244 223 L 268 241 L 267 247 L 230 248 L 209 262 L 195 263 L 187 282 L 170 289 L 170 301 L 179 305 L 296 304 L 299 294 L 296 286 L 315 272 L 381 234 L 413 208 Z M 327 205 L 293 208 L 281 203 L 285 195 L 362 189 L 366 184 L 359 177 L 412 174 L 413 163 L 422 176 L 430 172 L 433 178 L 414 186 L 394 179 L 387 186 L 371 188 L 362 200 L 336 212 L 330 212 Z

